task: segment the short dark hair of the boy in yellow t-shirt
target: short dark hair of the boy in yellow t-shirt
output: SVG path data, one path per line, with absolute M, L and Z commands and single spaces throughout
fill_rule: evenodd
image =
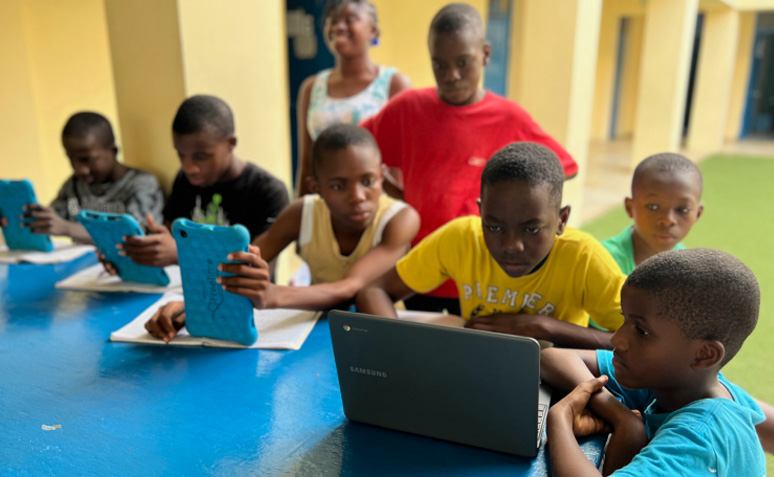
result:
M 534 142 L 515 142 L 500 149 L 481 173 L 481 195 L 487 186 L 516 180 L 530 187 L 548 184 L 557 207 L 561 205 L 564 169 L 551 149 Z

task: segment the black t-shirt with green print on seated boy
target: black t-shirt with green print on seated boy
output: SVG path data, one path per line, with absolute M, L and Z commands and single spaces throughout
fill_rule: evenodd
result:
M 164 207 L 164 221 L 183 217 L 200 224 L 242 224 L 254 239 L 287 205 L 285 185 L 252 163 L 247 163 L 236 179 L 211 187 L 191 185 L 180 171 Z

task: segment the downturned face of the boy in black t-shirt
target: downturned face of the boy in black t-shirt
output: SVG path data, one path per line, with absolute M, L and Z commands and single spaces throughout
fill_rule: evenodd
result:
M 218 139 L 205 128 L 192 134 L 172 133 L 180 168 L 191 185 L 210 187 L 218 183 L 231 167 L 236 137 Z

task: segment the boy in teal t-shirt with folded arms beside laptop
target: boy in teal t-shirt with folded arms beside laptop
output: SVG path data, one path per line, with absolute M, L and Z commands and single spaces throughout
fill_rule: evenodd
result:
M 629 275 L 621 308 L 612 352 L 541 353 L 541 379 L 574 388 L 548 413 L 551 474 L 602 475 L 576 436 L 611 431 L 604 475 L 765 475 L 764 415 L 719 374 L 758 321 L 750 269 L 719 250 L 659 253 Z

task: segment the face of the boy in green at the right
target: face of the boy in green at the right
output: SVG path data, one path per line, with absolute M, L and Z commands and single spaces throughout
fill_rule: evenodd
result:
M 704 210 L 700 200 L 697 174 L 661 172 L 644 177 L 624 205 L 637 235 L 658 253 L 672 250 L 688 235 Z

